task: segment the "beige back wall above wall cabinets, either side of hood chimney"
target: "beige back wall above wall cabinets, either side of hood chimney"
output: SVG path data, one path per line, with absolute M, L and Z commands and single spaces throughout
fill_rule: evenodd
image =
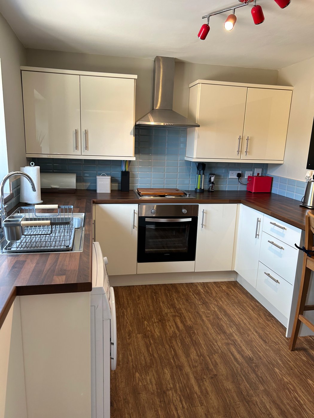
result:
M 137 74 L 135 117 L 143 116 L 152 106 L 153 60 L 80 54 L 76 52 L 26 49 L 27 65 L 82 71 Z M 207 64 L 175 63 L 174 110 L 188 115 L 188 84 L 197 79 L 277 84 L 278 71 Z

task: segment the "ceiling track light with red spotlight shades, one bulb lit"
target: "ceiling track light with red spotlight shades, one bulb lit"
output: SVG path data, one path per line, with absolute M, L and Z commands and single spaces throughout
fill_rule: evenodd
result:
M 238 0 L 238 1 L 242 4 L 230 7 L 228 9 L 219 10 L 218 12 L 215 12 L 215 13 L 208 13 L 207 15 L 202 16 L 202 19 L 207 18 L 207 24 L 204 23 L 202 25 L 200 31 L 198 32 L 198 38 L 200 38 L 203 41 L 206 38 L 206 36 L 208 35 L 208 32 L 210 30 L 209 18 L 211 16 L 219 15 L 220 13 L 229 12 L 230 10 L 232 10 L 232 14 L 229 15 L 226 18 L 226 21 L 224 23 L 224 28 L 226 29 L 226 31 L 232 31 L 232 29 L 234 28 L 235 23 L 237 22 L 237 16 L 235 15 L 235 9 L 239 9 L 240 7 L 247 6 L 253 0 Z M 279 7 L 284 9 L 285 7 L 287 7 L 291 3 L 291 0 L 275 0 L 275 2 L 278 4 Z M 254 21 L 255 25 L 260 25 L 261 23 L 264 22 L 265 16 L 264 16 L 264 13 L 263 13 L 263 9 L 260 5 L 256 4 L 256 0 L 254 0 L 253 7 L 251 9 L 251 14 L 252 14 L 252 18 L 253 18 L 253 21 Z

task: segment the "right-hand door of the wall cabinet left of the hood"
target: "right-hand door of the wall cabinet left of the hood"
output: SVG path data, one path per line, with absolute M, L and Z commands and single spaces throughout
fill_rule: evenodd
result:
M 134 156 L 134 79 L 80 76 L 82 156 Z

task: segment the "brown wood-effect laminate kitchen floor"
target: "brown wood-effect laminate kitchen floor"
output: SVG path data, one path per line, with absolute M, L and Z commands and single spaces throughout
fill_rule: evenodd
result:
M 313 418 L 314 338 L 237 282 L 116 287 L 111 418 Z

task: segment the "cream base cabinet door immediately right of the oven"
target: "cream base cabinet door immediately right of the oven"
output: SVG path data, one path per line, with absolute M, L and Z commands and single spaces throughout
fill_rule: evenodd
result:
M 203 204 L 198 210 L 195 271 L 232 270 L 237 204 Z

